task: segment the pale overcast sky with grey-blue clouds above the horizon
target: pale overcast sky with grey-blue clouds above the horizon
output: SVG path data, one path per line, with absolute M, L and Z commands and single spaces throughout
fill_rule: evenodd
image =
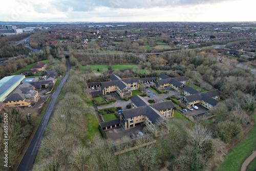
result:
M 255 0 L 5 0 L 4 22 L 244 22 Z

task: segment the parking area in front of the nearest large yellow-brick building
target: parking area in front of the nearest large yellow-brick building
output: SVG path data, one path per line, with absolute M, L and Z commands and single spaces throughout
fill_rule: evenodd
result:
M 131 135 L 135 135 L 137 132 L 142 132 L 143 126 L 141 124 L 136 125 L 135 127 L 125 130 L 123 126 L 116 127 L 114 129 L 105 130 L 106 135 L 112 139 L 117 140 L 122 137 L 130 137 Z

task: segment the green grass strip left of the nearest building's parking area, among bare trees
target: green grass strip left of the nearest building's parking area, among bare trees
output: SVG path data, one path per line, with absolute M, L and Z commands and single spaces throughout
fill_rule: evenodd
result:
M 99 134 L 98 121 L 94 113 L 86 113 L 86 128 L 87 128 L 87 138 L 92 140 L 95 134 Z

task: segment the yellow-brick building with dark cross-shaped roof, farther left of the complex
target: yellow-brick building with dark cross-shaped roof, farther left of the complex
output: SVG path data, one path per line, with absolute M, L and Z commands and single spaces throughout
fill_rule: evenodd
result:
M 117 92 L 120 98 L 132 96 L 132 91 L 139 89 L 138 78 L 121 79 L 117 75 L 110 77 L 111 81 L 105 81 L 100 83 L 101 93 L 107 94 L 111 92 Z

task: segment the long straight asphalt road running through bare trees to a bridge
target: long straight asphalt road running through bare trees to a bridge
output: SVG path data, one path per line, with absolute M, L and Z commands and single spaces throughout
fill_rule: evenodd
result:
M 46 113 L 42 117 L 42 120 L 41 120 L 41 122 L 38 126 L 38 129 L 36 130 L 36 133 L 27 149 L 27 152 L 25 153 L 22 161 L 19 163 L 19 166 L 17 168 L 18 171 L 28 171 L 28 170 L 31 170 L 33 167 L 33 164 L 34 164 L 34 161 L 35 161 L 38 149 L 39 149 L 41 138 L 45 134 L 46 126 L 49 122 L 49 119 L 50 119 L 52 113 L 53 113 L 55 102 L 59 96 L 59 93 L 60 93 L 63 85 L 65 84 L 65 82 L 67 81 L 67 79 L 69 77 L 68 73 L 71 69 L 71 65 L 70 65 L 69 59 L 68 58 L 66 58 L 66 59 L 67 59 L 67 74 L 65 75 L 65 77 L 63 77 L 58 88 L 53 93 L 51 101 L 46 110 Z

